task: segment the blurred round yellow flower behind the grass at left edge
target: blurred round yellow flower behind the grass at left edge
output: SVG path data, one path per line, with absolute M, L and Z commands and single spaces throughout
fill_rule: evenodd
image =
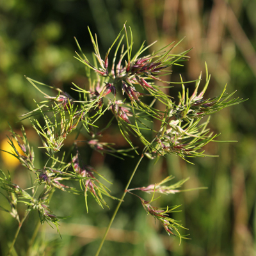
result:
M 5 151 L 13 153 L 14 150 L 13 150 L 12 146 L 8 143 L 8 141 L 9 141 L 8 138 L 2 140 L 1 144 L 0 144 L 0 148 Z M 20 154 L 24 155 L 24 153 L 22 152 L 18 143 L 15 140 L 13 140 L 13 144 L 17 148 L 18 152 Z M 15 168 L 16 166 L 18 166 L 20 164 L 20 161 L 16 157 L 14 157 L 6 152 L 3 152 L 3 151 L 0 151 L 0 152 L 1 152 L 1 158 L 3 159 L 3 162 L 7 168 Z

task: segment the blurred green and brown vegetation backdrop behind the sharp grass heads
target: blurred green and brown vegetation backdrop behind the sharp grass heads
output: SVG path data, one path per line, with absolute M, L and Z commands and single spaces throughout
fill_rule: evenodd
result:
M 228 83 L 227 91 L 237 90 L 236 97 L 250 98 L 239 106 L 223 109 L 211 118 L 212 131 L 220 140 L 238 143 L 210 143 L 205 147 L 218 158 L 195 159 L 195 165 L 177 157 L 166 157 L 153 165 L 143 161 L 132 187 L 147 186 L 167 175 L 175 181 L 190 177 L 184 188 L 207 186 L 208 189 L 172 196 L 161 196 L 157 205 L 182 204 L 174 215 L 181 220 L 184 234 L 191 240 L 168 237 L 159 223 L 146 216 L 140 201 L 127 195 L 100 255 L 193 255 L 219 256 L 256 255 L 256 1 L 255 0 L 1 0 L 0 1 L 0 141 L 7 147 L 8 122 L 19 132 L 24 125 L 36 153 L 38 168 L 44 161 L 39 150 L 40 140 L 28 120 L 19 122 L 20 115 L 35 108 L 43 100 L 24 75 L 37 81 L 69 90 L 71 82 L 86 83 L 84 67 L 75 60 L 74 36 L 86 54 L 93 51 L 87 26 L 97 33 L 102 56 L 108 51 L 125 20 L 134 35 L 134 52 L 143 40 L 157 44 L 154 51 L 174 41 L 186 38 L 177 52 L 193 47 L 191 59 L 184 68 L 174 68 L 172 79 L 179 73 L 184 79 L 197 79 L 207 61 L 212 75 L 209 97 L 218 95 Z M 177 96 L 179 86 L 170 89 Z M 115 139 L 120 146 L 123 140 Z M 70 140 L 71 141 L 71 140 Z M 68 147 L 68 142 L 66 147 Z M 122 145 L 123 143 L 123 145 Z M 81 148 L 84 159 L 113 182 L 113 195 L 122 189 L 138 159 L 122 162 L 113 157 Z M 10 170 L 14 182 L 28 186 L 29 175 L 24 168 L 1 154 L 0 167 Z M 1 204 L 6 204 L 1 197 Z M 89 213 L 84 198 L 56 193 L 51 207 L 59 216 L 70 216 L 61 223 L 62 239 L 56 229 L 45 224 L 36 239 L 31 255 L 94 255 L 104 227 L 115 209 L 100 209 L 89 196 Z M 20 212 L 24 209 L 20 208 Z M 31 214 L 24 223 L 15 246 L 18 255 L 26 255 L 29 239 L 38 221 Z M 17 223 L 0 212 L 0 255 L 6 255 Z M 45 253 L 45 254 L 44 254 Z

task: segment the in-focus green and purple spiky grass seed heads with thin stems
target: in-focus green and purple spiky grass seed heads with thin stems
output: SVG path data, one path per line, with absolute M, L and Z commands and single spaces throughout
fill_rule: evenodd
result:
M 36 179 L 32 188 L 29 188 L 32 194 L 30 195 L 25 189 L 13 184 L 10 175 L 7 177 L 1 172 L 1 188 L 6 191 L 2 195 L 8 200 L 10 211 L 2 209 L 3 211 L 9 212 L 19 222 L 19 228 L 17 229 L 17 234 L 19 234 L 20 227 L 31 210 L 38 211 L 41 223 L 47 221 L 49 224 L 53 223 L 58 228 L 58 222 L 61 218 L 53 214 L 49 209 L 51 196 L 56 189 L 74 193 L 74 195 L 83 193 L 87 211 L 88 192 L 90 192 L 97 204 L 102 208 L 104 205 L 108 207 L 103 196 L 118 199 L 111 196 L 108 187 L 97 179 L 97 177 L 101 179 L 105 178 L 95 168 L 83 163 L 82 159 L 84 157 L 79 155 L 78 150 L 74 152 L 77 143 L 83 141 L 92 150 L 100 152 L 100 154 L 110 154 L 123 159 L 122 157 L 129 156 L 127 152 L 134 150 L 136 154 L 141 155 L 127 183 L 124 194 L 119 199 L 116 211 L 111 218 L 96 255 L 99 255 L 100 248 L 104 243 L 104 239 L 106 239 L 108 230 L 115 219 L 116 212 L 123 202 L 126 193 L 131 193 L 132 190 L 152 193 L 153 196 L 150 201 L 140 198 L 141 204 L 147 214 L 159 220 L 169 235 L 172 234 L 175 236 L 176 233 L 180 239 L 185 238 L 180 235 L 178 230 L 184 227 L 169 216 L 178 206 L 158 208 L 153 207 L 151 203 L 154 201 L 154 193 L 168 195 L 180 192 L 180 186 L 187 179 L 180 180 L 180 182 L 170 186 L 165 186 L 164 184 L 173 179 L 172 176 L 147 187 L 129 189 L 129 185 L 144 156 L 150 159 L 157 159 L 166 154 L 174 154 L 182 157 L 186 161 L 188 161 L 188 157 L 207 156 L 204 154 L 203 147 L 212 141 L 217 134 L 209 131 L 207 128 L 209 118 L 204 120 L 204 116 L 210 116 L 223 108 L 239 104 L 244 100 L 239 98 L 230 99 L 234 93 L 225 93 L 226 86 L 218 97 L 204 99 L 204 94 L 210 81 L 206 66 L 207 76 L 205 86 L 200 93 L 198 93 L 198 87 L 202 75 L 196 81 L 186 82 L 182 81 L 182 77 L 180 76 L 180 82 L 178 84 L 182 86 L 182 92 L 179 93 L 180 102 L 176 104 L 172 100 L 173 97 L 166 95 L 162 90 L 164 87 L 171 87 L 164 86 L 164 83 L 171 84 L 175 82 L 163 81 L 161 77 L 172 73 L 172 65 L 182 66 L 184 61 L 188 61 L 189 57 L 186 54 L 191 49 L 180 54 L 172 54 L 172 49 L 180 41 L 172 47 L 171 45 L 173 43 L 166 45 L 166 47 L 163 47 L 157 52 L 144 55 L 143 53 L 147 51 L 148 47 L 156 42 L 147 47 L 143 43 L 139 51 L 132 56 L 132 31 L 129 28 L 129 33 L 127 33 L 124 24 L 123 29 L 111 47 L 109 47 L 108 52 L 104 54 L 104 58 L 102 58 L 97 42 L 97 35 L 93 36 L 89 28 L 88 31 L 94 49 L 92 59 L 83 53 L 76 40 L 81 54 L 76 52 L 77 56 L 75 58 L 85 65 L 85 74 L 88 77 L 88 84 L 85 86 L 84 84 L 83 86 L 79 86 L 72 83 L 72 90 L 76 92 L 77 99 L 74 99 L 67 92 L 63 92 L 60 88 L 48 86 L 47 84 L 26 77 L 29 83 L 44 95 L 44 101 L 40 103 L 35 102 L 36 109 L 23 116 L 24 118 L 31 118 L 33 128 L 43 143 L 43 146 L 40 148 L 44 148 L 48 159 L 44 166 L 35 168 L 33 148 L 28 143 L 24 128 L 22 127 L 22 136 L 17 135 L 11 128 L 12 137 L 9 138 L 9 143 L 13 151 L 9 152 L 9 154 L 19 159 L 23 166 L 31 170 L 36 175 Z M 126 46 L 122 44 L 124 38 Z M 115 45 L 116 49 L 113 60 L 111 61 L 109 60 L 109 52 Z M 109 65 L 109 63 L 112 63 L 112 65 Z M 193 94 L 189 97 L 189 91 L 185 89 L 184 84 L 191 82 L 195 82 L 196 85 Z M 51 96 L 43 92 L 40 86 L 51 88 L 54 95 Z M 157 109 L 156 102 L 161 103 L 165 110 Z M 100 127 L 99 119 L 106 113 L 112 116 L 103 127 Z M 36 115 L 40 115 L 43 122 L 36 118 Z M 157 125 L 154 124 L 156 121 Z M 115 125 L 115 123 L 117 123 L 120 134 L 125 138 L 127 146 L 130 146 L 130 148 L 117 149 L 114 143 L 102 142 L 103 139 L 100 139 L 104 132 L 111 125 Z M 70 147 L 69 152 L 65 154 L 63 152 L 65 140 L 76 129 L 77 136 L 74 143 Z M 83 136 L 85 138 L 79 141 L 77 138 L 83 129 Z M 19 148 L 17 148 L 13 140 L 17 141 Z M 141 148 L 141 145 L 143 148 Z M 59 159 L 61 154 L 62 157 Z M 72 154 L 76 155 L 72 157 Z M 106 181 L 108 182 L 108 180 Z M 78 182 L 82 192 L 77 191 L 72 186 L 68 186 L 70 182 Z M 40 186 L 42 193 L 38 196 L 36 191 Z M 19 219 L 17 212 L 18 202 L 22 202 L 28 207 L 22 220 Z M 15 236 L 16 238 L 17 236 Z M 13 240 L 12 246 L 15 243 L 15 239 Z

